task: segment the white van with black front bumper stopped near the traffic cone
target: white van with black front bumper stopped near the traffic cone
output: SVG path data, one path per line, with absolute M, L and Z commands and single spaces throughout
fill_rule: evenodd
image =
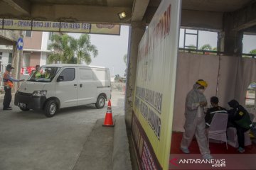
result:
M 15 94 L 21 111 L 43 110 L 47 117 L 58 108 L 95 103 L 103 108 L 110 99 L 110 70 L 79 64 L 49 64 L 40 67 Z

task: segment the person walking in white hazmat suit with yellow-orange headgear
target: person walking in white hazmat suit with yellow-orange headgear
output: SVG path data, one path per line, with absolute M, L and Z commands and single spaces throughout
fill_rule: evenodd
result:
M 196 135 L 196 140 L 203 159 L 213 159 L 210 155 L 210 150 L 208 147 L 208 141 L 206 137 L 206 122 L 203 113 L 204 107 L 207 106 L 206 96 L 203 92 L 206 90 L 208 84 L 203 79 L 196 81 L 193 85 L 193 89 L 188 92 L 186 96 L 186 106 L 185 106 L 185 125 L 183 132 L 183 137 L 181 140 L 181 151 L 188 154 L 188 147 L 191 144 L 193 135 Z

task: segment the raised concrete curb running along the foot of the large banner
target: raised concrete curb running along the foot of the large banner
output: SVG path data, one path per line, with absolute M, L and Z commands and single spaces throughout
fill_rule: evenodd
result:
M 124 115 L 114 116 L 114 148 L 112 152 L 112 170 L 132 170 L 129 153 L 129 141 L 124 121 Z

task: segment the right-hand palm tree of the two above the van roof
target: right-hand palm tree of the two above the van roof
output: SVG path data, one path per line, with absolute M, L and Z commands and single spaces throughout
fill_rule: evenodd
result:
M 90 64 L 92 62 L 91 55 L 96 57 L 98 54 L 97 47 L 90 42 L 90 35 L 82 34 L 78 39 L 77 45 L 78 64 L 81 64 L 83 61 L 86 64 Z

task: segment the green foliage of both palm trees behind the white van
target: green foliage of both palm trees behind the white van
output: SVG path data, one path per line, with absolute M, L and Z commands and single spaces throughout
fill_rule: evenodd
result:
M 97 47 L 91 44 L 90 35 L 87 34 L 82 34 L 78 39 L 68 34 L 53 34 L 51 40 L 48 49 L 52 49 L 53 53 L 48 56 L 48 63 L 90 64 L 91 56 L 98 54 Z

